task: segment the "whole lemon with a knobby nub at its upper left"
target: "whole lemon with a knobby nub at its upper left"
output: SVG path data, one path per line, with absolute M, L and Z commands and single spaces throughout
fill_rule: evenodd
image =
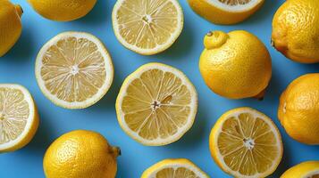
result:
M 272 60 L 264 44 L 247 31 L 213 31 L 204 38 L 199 69 L 206 85 L 223 97 L 263 98 L 272 77 Z

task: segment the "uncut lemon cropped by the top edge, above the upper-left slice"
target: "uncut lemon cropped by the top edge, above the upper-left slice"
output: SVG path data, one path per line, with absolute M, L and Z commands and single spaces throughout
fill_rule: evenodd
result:
M 49 20 L 77 20 L 90 12 L 97 0 L 28 0 L 40 15 Z

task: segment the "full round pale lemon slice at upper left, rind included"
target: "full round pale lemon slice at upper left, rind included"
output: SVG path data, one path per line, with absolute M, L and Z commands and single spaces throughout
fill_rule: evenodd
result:
M 56 105 L 84 109 L 99 101 L 112 85 L 113 64 L 96 36 L 64 32 L 38 53 L 36 77 L 42 93 Z

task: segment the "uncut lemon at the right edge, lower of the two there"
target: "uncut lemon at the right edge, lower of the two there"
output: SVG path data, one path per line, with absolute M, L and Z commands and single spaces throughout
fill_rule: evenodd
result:
M 298 142 L 319 144 L 319 73 L 295 79 L 281 94 L 278 117 Z

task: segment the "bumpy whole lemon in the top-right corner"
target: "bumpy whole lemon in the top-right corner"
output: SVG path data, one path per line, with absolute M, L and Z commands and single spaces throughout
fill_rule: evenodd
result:
M 318 0 L 290 0 L 273 18 L 273 46 L 293 61 L 319 62 Z

